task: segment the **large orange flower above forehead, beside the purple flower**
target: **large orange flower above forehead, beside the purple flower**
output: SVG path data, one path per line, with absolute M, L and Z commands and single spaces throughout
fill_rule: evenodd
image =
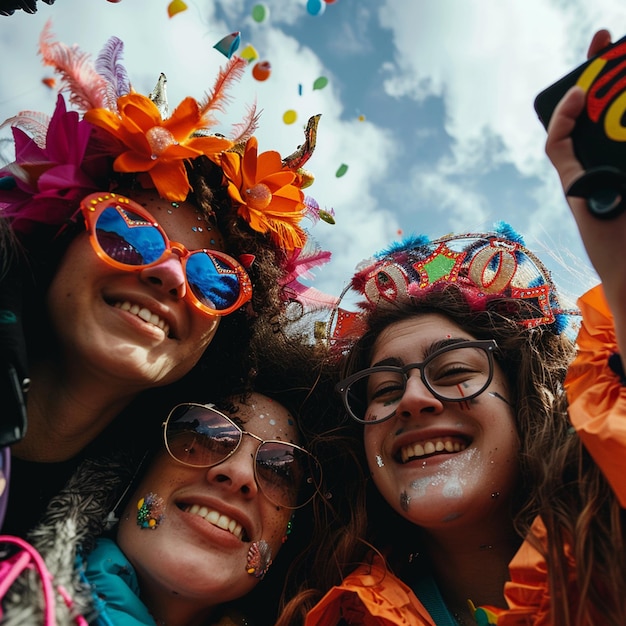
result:
M 91 109 L 84 119 L 108 131 L 128 148 L 115 159 L 115 171 L 148 172 L 159 195 L 167 200 L 181 202 L 191 189 L 186 159 L 202 154 L 215 159 L 232 146 L 224 138 L 192 136 L 207 125 L 193 98 L 185 98 L 165 120 L 154 102 L 138 93 L 120 97 L 117 106 L 119 113 Z

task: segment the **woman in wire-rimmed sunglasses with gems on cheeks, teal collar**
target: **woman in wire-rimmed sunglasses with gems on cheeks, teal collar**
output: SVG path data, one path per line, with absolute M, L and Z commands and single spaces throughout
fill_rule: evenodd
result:
M 29 539 L 50 571 L 55 623 L 275 623 L 311 542 L 322 490 L 312 451 L 328 459 L 332 443 L 307 432 L 330 381 L 317 383 L 303 337 L 277 334 L 262 356 L 236 395 L 212 404 L 190 391 L 155 414 L 160 428 L 88 458 L 53 498 Z M 13 584 L 7 623 L 40 623 L 40 589 L 33 571 Z

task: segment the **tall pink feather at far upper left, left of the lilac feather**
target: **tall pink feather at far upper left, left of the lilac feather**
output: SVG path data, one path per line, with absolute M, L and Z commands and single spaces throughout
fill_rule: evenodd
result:
M 96 72 L 89 54 L 78 46 L 54 41 L 50 20 L 39 37 L 39 53 L 44 64 L 61 75 L 61 91 L 69 91 L 70 102 L 76 108 L 86 111 L 107 107 L 108 82 Z

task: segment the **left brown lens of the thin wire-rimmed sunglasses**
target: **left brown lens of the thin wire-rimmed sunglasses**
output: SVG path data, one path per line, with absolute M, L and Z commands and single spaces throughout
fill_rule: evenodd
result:
M 202 406 L 177 407 L 167 423 L 170 453 L 186 465 L 210 467 L 235 450 L 241 433 L 219 413 Z

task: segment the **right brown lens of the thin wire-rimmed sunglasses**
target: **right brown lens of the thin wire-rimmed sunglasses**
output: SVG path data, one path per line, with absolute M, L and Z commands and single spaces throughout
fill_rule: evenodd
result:
M 308 502 L 319 485 L 315 458 L 286 443 L 262 444 L 257 451 L 256 472 L 270 500 L 290 508 Z

